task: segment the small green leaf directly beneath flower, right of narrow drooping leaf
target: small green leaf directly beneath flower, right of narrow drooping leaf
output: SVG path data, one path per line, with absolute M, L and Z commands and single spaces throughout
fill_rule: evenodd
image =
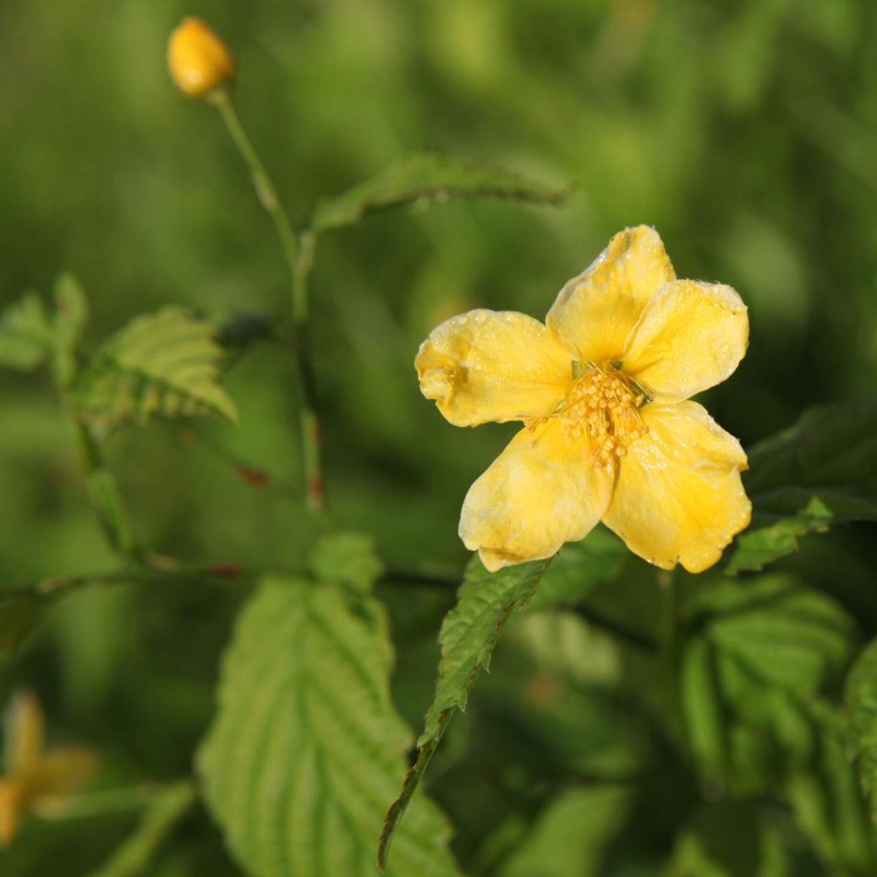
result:
M 617 536 L 598 527 L 581 542 L 569 542 L 560 549 L 533 595 L 531 609 L 553 609 L 580 602 L 592 588 L 621 574 L 630 556 Z

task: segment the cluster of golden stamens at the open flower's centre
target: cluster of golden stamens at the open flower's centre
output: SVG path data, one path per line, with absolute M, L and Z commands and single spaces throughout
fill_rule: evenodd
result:
M 639 416 L 645 393 L 610 363 L 586 366 L 555 412 L 570 441 L 585 441 L 595 463 L 607 468 L 648 431 Z

